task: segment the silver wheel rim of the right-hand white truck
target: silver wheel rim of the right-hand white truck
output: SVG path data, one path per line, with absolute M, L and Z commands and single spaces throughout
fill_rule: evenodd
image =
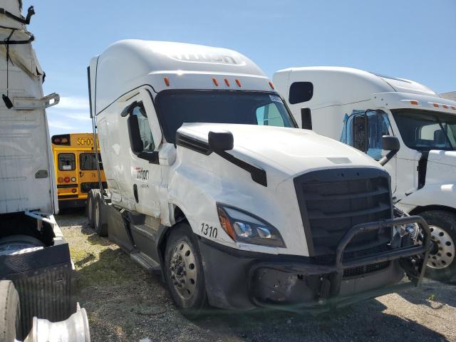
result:
M 450 235 L 440 227 L 429 226 L 431 239 L 434 243 L 427 260 L 432 269 L 445 269 L 455 259 L 455 243 Z

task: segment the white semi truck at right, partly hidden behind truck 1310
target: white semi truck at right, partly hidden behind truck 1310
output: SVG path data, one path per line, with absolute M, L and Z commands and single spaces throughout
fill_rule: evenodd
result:
M 316 133 L 375 160 L 388 153 L 383 135 L 399 139 L 400 150 L 385 165 L 393 200 L 430 225 L 427 276 L 455 281 L 456 102 L 414 81 L 353 68 L 287 68 L 273 79 L 296 121 L 304 118 Z

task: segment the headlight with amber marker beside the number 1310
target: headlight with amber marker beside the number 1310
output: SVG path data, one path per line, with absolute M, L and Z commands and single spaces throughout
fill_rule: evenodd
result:
M 217 204 L 217 214 L 222 228 L 234 241 L 285 247 L 279 231 L 253 214 L 223 204 Z

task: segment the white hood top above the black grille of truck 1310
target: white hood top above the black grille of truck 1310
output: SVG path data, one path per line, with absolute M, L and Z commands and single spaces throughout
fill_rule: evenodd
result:
M 263 125 L 185 123 L 179 133 L 207 142 L 209 131 L 228 130 L 234 137 L 230 154 L 261 167 L 293 176 L 331 167 L 380 167 L 363 152 L 311 130 Z

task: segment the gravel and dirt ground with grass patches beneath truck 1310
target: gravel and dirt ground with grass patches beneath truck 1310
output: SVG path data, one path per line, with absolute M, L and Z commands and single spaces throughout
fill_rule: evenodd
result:
M 93 342 L 456 341 L 456 286 L 435 281 L 319 316 L 211 310 L 189 321 L 160 280 L 98 237 L 83 212 L 56 219 L 70 244 Z

